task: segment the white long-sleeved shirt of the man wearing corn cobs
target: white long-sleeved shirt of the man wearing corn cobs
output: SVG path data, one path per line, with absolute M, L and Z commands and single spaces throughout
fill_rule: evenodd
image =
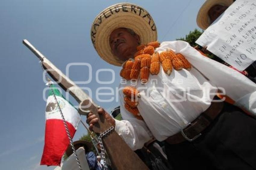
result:
M 148 83 L 144 85 L 140 81 L 136 84 L 131 81 L 120 83 L 119 88 L 136 87 L 141 96 L 138 109 L 144 121 L 136 119 L 124 108 L 124 95 L 119 90 L 123 120 L 116 120 L 115 130 L 133 150 L 142 148 L 152 136 L 163 141 L 178 133 L 211 105 L 217 87 L 222 87 L 226 95 L 237 102 L 236 105 L 255 114 L 256 85 L 251 80 L 202 56 L 184 41 L 163 42 L 156 51 L 161 53 L 168 48 L 182 53 L 196 69 L 173 69 L 168 76 L 161 67 L 160 73 L 150 75 Z

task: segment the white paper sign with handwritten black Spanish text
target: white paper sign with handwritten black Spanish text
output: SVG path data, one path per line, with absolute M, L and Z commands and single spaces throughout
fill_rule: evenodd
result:
M 256 60 L 256 1 L 236 0 L 196 41 L 239 71 Z

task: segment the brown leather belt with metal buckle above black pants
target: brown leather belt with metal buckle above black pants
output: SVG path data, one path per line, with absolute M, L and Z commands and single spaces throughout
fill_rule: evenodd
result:
M 189 123 L 179 133 L 170 136 L 165 141 L 169 144 L 178 144 L 183 141 L 194 141 L 201 135 L 211 122 L 220 114 L 224 102 L 212 102 L 210 107 L 200 114 L 193 122 Z

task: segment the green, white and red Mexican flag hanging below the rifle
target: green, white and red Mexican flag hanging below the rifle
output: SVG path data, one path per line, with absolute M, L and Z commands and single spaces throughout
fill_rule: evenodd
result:
M 55 96 L 67 122 L 70 135 L 73 138 L 80 122 L 80 114 L 67 100 L 64 99 L 60 91 L 56 89 L 54 85 L 51 85 L 51 87 L 54 90 Z M 58 105 L 55 102 L 51 90 L 49 91 L 46 103 L 45 119 L 45 145 L 40 165 L 60 166 L 61 158 L 70 142 Z

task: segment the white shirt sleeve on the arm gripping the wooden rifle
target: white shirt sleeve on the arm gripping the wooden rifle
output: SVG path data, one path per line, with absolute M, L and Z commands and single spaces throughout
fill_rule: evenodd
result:
M 139 120 L 124 108 L 124 96 L 119 91 L 120 112 L 123 120 L 115 120 L 115 131 L 132 150 L 141 149 L 152 138 L 152 134 L 143 120 Z

